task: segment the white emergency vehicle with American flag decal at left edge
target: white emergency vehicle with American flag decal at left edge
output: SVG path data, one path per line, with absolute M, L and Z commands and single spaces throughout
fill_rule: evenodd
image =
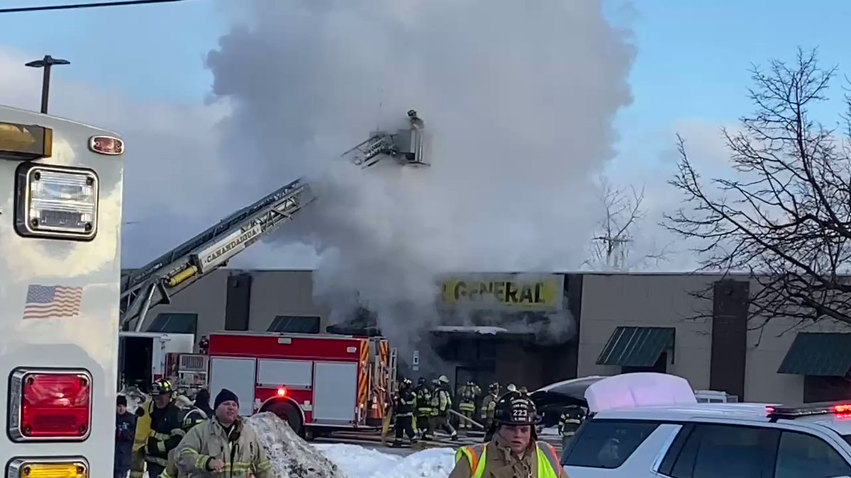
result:
M 9 477 L 111 476 L 123 140 L 0 106 L 0 401 Z

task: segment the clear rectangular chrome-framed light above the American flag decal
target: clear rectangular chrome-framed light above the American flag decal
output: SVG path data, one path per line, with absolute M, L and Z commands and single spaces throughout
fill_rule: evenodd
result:
M 90 241 L 97 232 L 98 177 L 90 169 L 23 163 L 17 199 L 21 236 Z

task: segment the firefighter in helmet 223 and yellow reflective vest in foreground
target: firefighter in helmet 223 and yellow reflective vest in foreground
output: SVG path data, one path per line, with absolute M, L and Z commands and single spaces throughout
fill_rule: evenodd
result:
M 528 397 L 503 397 L 494 414 L 493 438 L 487 443 L 460 447 L 449 478 L 567 478 L 555 448 L 537 441 L 537 423 L 537 410 Z

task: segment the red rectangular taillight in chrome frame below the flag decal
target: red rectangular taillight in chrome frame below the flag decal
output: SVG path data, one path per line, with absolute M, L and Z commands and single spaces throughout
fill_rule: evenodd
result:
M 18 368 L 10 381 L 9 437 L 13 441 L 89 437 L 92 378 L 87 371 Z

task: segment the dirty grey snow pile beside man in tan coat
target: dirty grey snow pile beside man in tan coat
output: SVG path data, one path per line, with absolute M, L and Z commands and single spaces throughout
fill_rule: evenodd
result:
M 275 478 L 356 478 L 346 476 L 274 413 L 257 413 L 246 418 L 245 422 L 266 448 Z

